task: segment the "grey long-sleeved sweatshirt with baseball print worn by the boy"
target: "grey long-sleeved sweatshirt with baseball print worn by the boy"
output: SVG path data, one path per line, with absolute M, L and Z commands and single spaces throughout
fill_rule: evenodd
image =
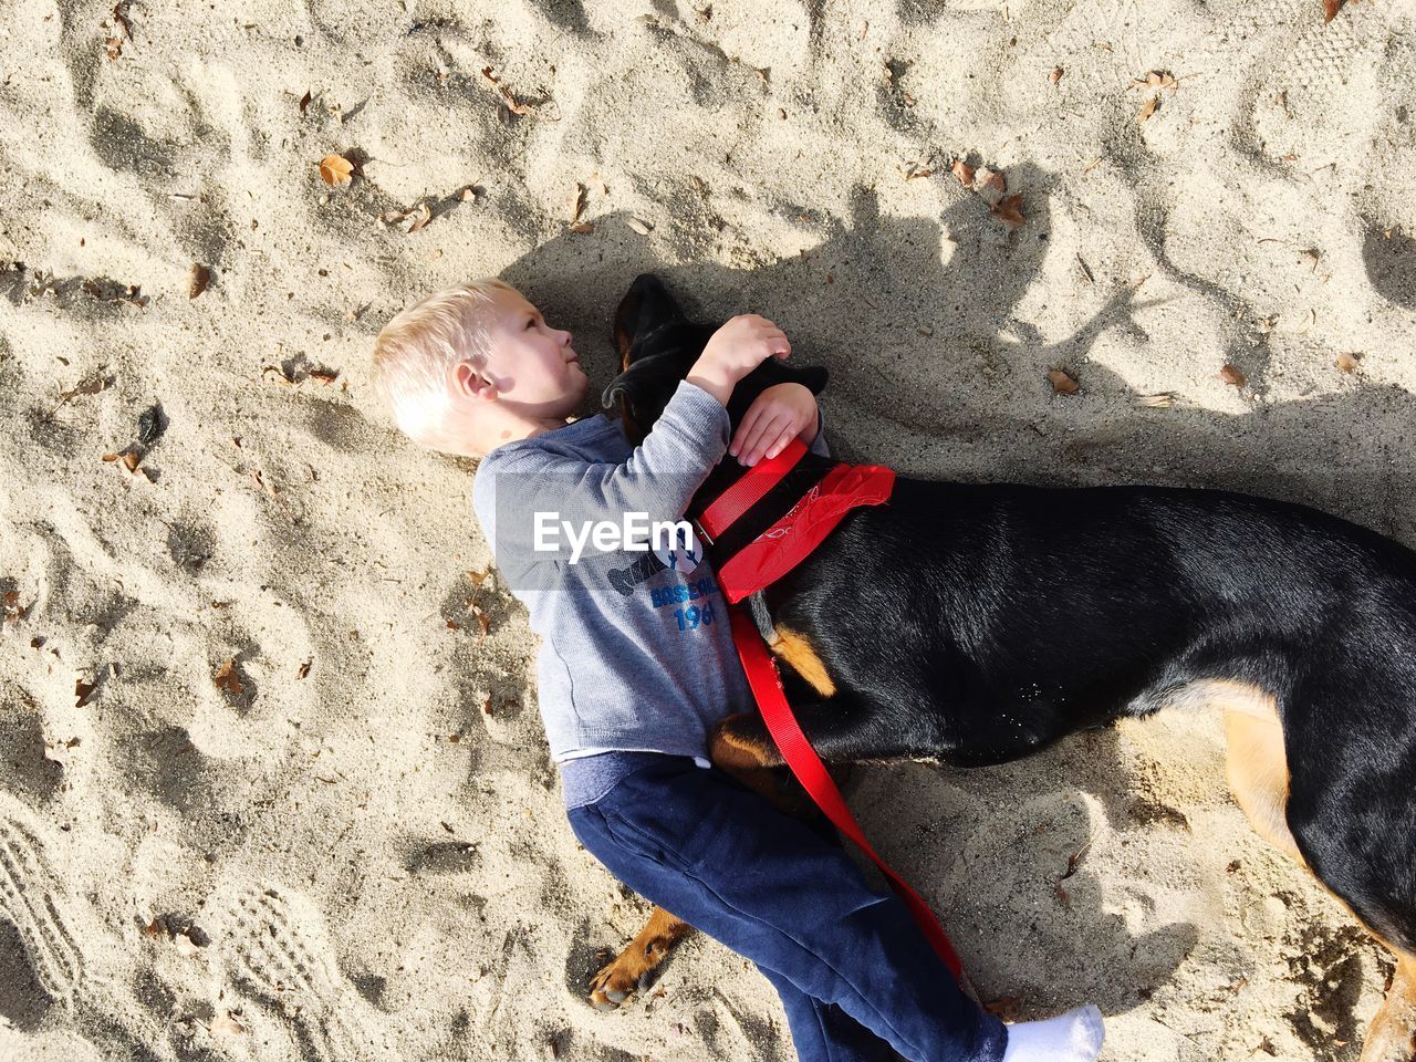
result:
M 728 411 L 683 381 L 637 447 L 599 415 L 498 446 L 477 467 L 473 510 L 541 637 L 541 719 L 569 806 L 641 760 L 605 753 L 708 766 L 712 725 L 752 707 L 702 542 L 630 548 L 651 521 L 683 518 L 729 430 Z M 820 428 L 811 449 L 826 452 Z

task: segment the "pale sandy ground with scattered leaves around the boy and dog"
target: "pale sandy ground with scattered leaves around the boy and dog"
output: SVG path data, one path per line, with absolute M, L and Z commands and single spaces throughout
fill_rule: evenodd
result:
M 654 269 L 827 365 L 845 456 L 1416 545 L 1409 3 L 692 3 L 0 10 L 0 1058 L 794 1058 L 701 937 L 585 1001 L 647 908 L 565 824 L 524 610 L 469 581 L 473 464 L 368 388 L 435 287 L 501 273 L 603 382 Z M 1172 716 L 850 796 L 1015 1014 L 1096 1000 L 1116 1062 L 1354 1059 L 1389 963 L 1221 750 Z

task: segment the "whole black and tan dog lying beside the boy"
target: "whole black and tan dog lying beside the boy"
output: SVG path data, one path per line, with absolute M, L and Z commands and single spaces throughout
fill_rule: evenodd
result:
M 605 392 L 632 439 L 712 331 L 656 278 L 634 280 L 615 323 L 624 372 Z M 736 388 L 733 423 L 782 379 L 820 391 L 826 372 L 769 360 Z M 731 534 L 760 532 L 831 464 L 803 457 L 776 507 Z M 690 515 L 743 472 L 725 459 Z M 1219 707 L 1253 826 L 1398 956 L 1364 1061 L 1413 1058 L 1416 552 L 1222 490 L 901 477 L 765 596 L 773 650 L 814 691 L 797 719 L 828 763 L 1000 763 L 1126 715 Z M 756 712 L 725 719 L 712 756 L 742 776 L 782 763 Z M 663 915 L 634 969 L 606 967 L 596 993 L 633 987 L 643 956 L 683 932 L 666 935 Z

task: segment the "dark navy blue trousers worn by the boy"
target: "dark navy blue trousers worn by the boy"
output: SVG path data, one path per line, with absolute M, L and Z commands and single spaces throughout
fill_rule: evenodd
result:
M 841 848 L 683 756 L 569 810 L 616 878 L 750 959 L 806 1062 L 1000 1062 L 1007 1029 L 954 981 L 893 895 Z

